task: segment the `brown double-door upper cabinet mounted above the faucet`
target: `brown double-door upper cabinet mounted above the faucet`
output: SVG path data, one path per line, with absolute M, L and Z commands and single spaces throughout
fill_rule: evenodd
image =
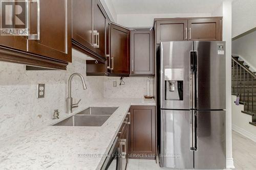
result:
M 73 47 L 82 53 L 105 62 L 106 20 L 98 0 L 72 1 Z

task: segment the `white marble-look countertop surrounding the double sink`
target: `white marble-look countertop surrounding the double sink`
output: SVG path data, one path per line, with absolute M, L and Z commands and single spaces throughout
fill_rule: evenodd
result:
M 101 127 L 37 127 L 0 141 L 0 169 L 100 169 L 130 106 L 155 106 L 153 99 L 101 99 L 83 106 L 118 107 Z

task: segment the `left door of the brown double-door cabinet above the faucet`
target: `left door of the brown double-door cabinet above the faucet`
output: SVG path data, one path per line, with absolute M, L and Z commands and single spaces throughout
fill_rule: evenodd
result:
M 72 1 L 72 38 L 89 49 L 93 49 L 93 1 Z

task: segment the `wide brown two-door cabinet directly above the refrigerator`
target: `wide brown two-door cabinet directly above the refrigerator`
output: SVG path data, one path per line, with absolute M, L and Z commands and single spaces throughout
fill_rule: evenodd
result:
M 155 19 L 156 42 L 221 41 L 222 17 Z

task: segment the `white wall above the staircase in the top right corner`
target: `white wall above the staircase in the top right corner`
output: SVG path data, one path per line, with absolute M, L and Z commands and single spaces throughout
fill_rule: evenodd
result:
M 256 27 L 256 1 L 232 2 L 232 38 Z

